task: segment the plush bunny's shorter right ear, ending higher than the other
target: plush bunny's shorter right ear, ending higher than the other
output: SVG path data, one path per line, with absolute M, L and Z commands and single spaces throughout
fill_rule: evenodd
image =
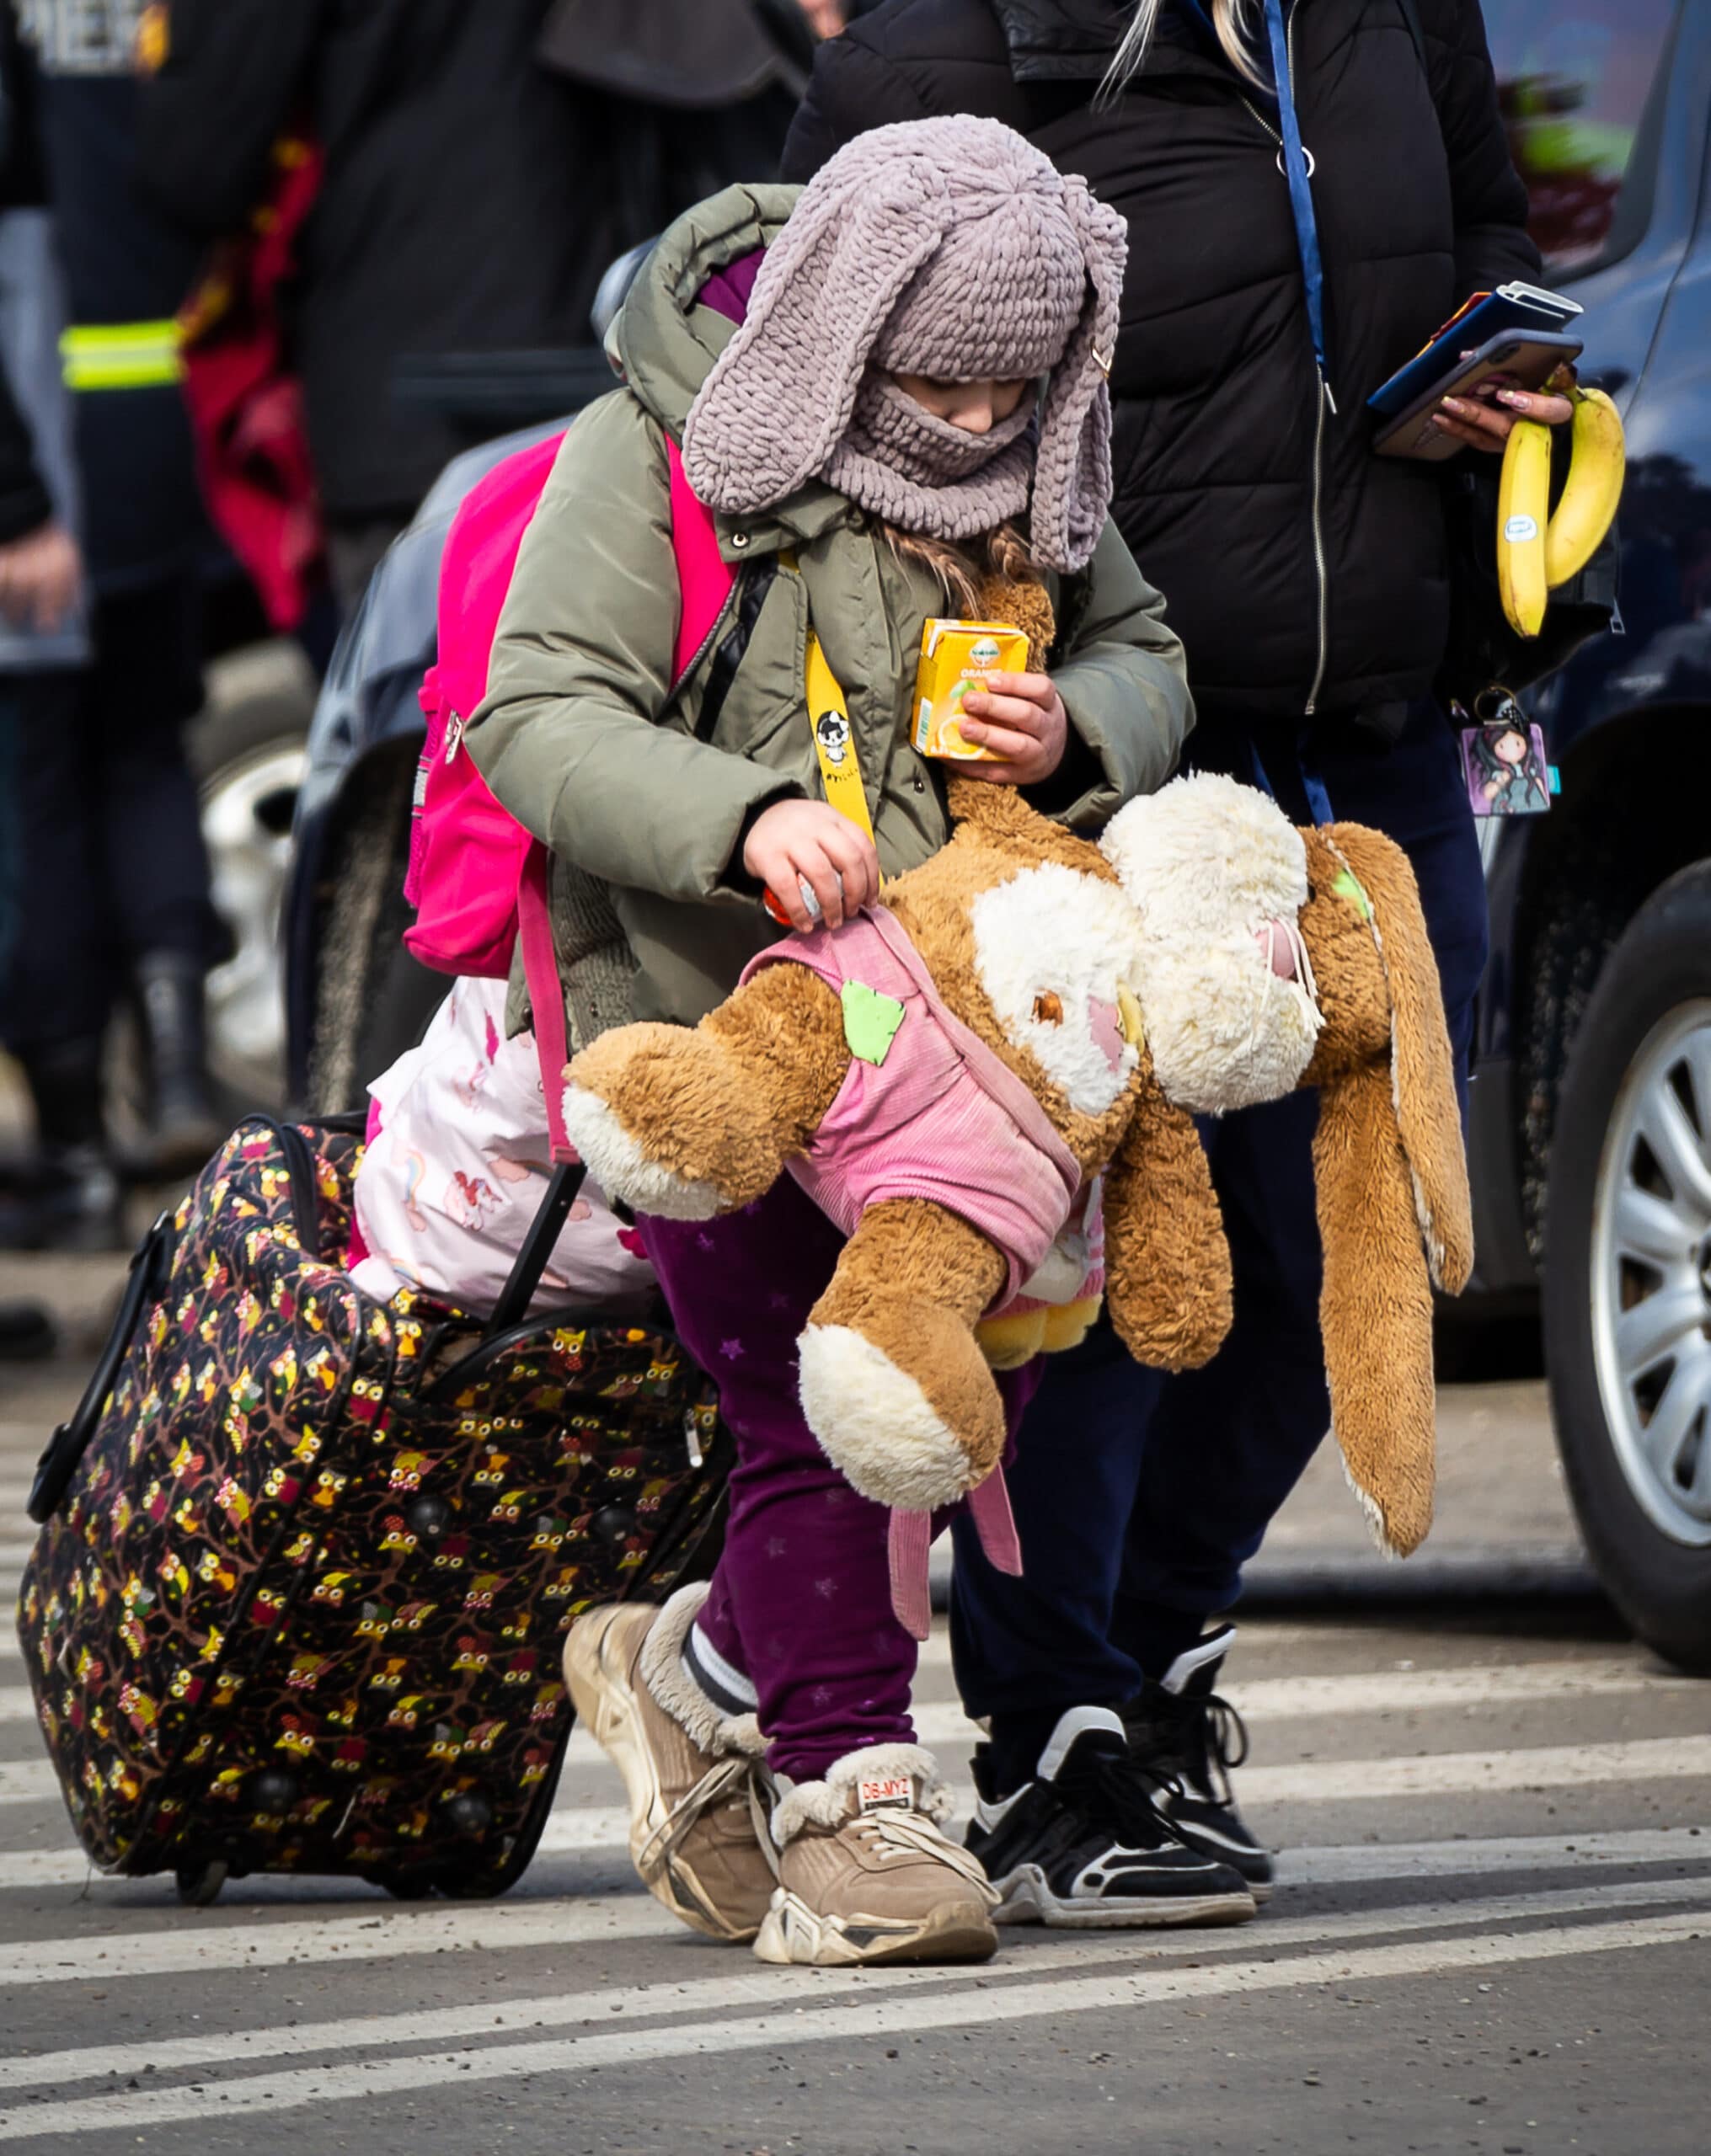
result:
M 1407 854 L 1383 832 L 1338 824 L 1327 837 L 1372 910 L 1390 985 L 1392 1112 L 1402 1141 L 1433 1285 L 1459 1296 L 1474 1270 L 1474 1207 L 1461 1138 L 1443 990 Z

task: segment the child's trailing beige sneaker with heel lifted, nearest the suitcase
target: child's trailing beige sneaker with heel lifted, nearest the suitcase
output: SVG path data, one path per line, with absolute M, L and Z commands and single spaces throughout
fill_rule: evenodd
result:
M 662 1608 L 587 1611 L 565 1641 L 565 1684 L 624 1777 L 630 1856 L 647 1891 L 710 1938 L 753 1938 L 777 1884 L 762 1848 L 766 1740 L 753 1714 L 725 1714 L 684 1669 L 706 1593 L 680 1587 Z

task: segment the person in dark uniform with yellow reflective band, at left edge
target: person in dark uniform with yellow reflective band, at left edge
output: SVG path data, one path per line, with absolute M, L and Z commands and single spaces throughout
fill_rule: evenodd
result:
M 69 298 L 91 664 L 37 679 L 17 744 L 22 918 L 0 1035 L 35 1100 L 39 1175 L 0 1214 L 4 1248 L 123 1242 L 101 1112 L 123 994 L 142 1018 L 153 1164 L 201 1164 L 224 1128 L 203 1052 L 218 923 L 183 746 L 203 701 L 207 526 L 173 313 L 194 250 L 132 190 L 138 17 L 140 0 L 26 0 L 13 41 Z

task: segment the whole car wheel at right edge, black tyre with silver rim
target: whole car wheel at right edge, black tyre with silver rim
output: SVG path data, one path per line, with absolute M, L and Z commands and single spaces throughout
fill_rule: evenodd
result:
M 1640 908 L 1575 1035 L 1545 1360 L 1599 1578 L 1640 1639 L 1711 1675 L 1711 865 Z

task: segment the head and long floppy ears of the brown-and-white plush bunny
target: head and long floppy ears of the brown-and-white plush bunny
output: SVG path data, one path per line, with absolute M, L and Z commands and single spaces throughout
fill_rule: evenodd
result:
M 1273 1026 L 1243 1052 L 1238 929 L 1264 908 L 1299 908 L 1299 970 L 1316 987 L 1318 1031 L 1299 1082 L 1318 1089 L 1331 1427 L 1377 1539 L 1407 1557 L 1433 1518 L 1433 1287 L 1459 1294 L 1474 1266 L 1443 996 L 1402 849 L 1357 824 L 1329 824 L 1290 834 L 1297 869 L 1277 821 L 1254 789 L 1202 776 L 1122 808 L 1105 849 L 1146 927 L 1154 1067 L 1169 1100 L 1197 1112 L 1288 1091 L 1286 1061 L 1267 1052 L 1299 1052 L 1286 1031 Z M 1262 871 L 1264 893 L 1245 895 Z M 1219 938 L 1232 981 L 1195 998 L 1193 972 L 1208 979 Z

